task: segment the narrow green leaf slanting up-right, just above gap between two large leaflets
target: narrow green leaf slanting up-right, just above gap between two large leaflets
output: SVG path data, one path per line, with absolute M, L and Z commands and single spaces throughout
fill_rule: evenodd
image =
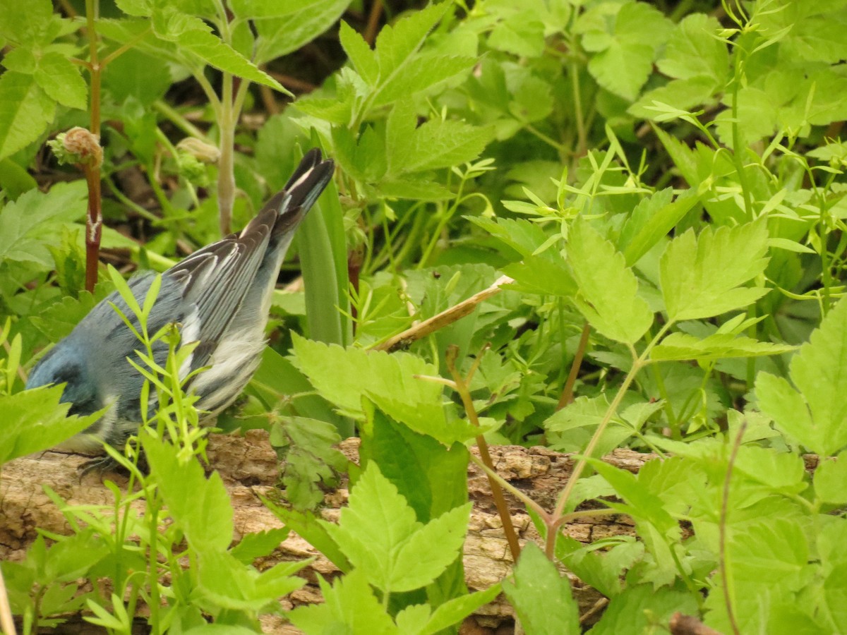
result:
M 623 221 L 617 248 L 623 251 L 628 267 L 667 236 L 698 201 L 696 191 L 688 190 L 672 202 L 673 189 L 666 188 L 642 199 Z

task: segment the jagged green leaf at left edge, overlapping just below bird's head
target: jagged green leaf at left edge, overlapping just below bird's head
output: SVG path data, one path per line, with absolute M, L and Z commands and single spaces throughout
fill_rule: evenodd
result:
M 60 404 L 64 386 L 0 395 L 0 466 L 19 456 L 47 450 L 82 432 L 102 415 L 65 417 L 70 404 Z

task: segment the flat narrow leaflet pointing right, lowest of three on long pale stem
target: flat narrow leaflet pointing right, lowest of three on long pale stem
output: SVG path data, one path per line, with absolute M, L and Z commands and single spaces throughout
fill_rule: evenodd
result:
M 704 362 L 727 357 L 781 355 L 794 349 L 794 346 L 760 342 L 728 333 L 711 334 L 702 340 L 694 335 L 672 333 L 650 351 L 650 359 L 660 362 L 687 359 Z

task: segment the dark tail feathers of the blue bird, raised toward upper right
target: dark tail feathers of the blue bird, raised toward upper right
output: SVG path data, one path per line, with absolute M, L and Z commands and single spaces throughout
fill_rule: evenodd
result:
M 273 212 L 276 218 L 271 229 L 271 240 L 290 233 L 318 200 L 318 196 L 332 179 L 334 170 L 335 163 L 332 159 L 322 160 L 320 150 L 313 148 L 302 158 L 294 174 L 291 174 L 285 189 L 277 192 L 254 220 L 265 220 L 268 214 Z M 244 232 L 248 229 L 249 225 Z

